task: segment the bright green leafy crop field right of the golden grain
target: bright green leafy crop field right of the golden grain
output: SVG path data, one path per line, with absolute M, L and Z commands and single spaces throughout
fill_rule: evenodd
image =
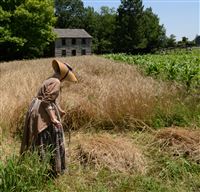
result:
M 126 55 L 110 54 L 106 58 L 139 66 L 146 75 L 177 81 L 190 90 L 200 88 L 200 51 L 179 51 L 170 54 Z

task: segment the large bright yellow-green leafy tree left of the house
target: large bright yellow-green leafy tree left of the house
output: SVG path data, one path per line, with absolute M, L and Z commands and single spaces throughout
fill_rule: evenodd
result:
M 53 0 L 3 0 L 0 5 L 0 59 L 42 56 L 55 38 Z

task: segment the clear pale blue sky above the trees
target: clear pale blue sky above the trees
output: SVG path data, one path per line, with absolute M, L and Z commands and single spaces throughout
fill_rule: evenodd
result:
M 119 7 L 120 0 L 83 0 L 84 6 L 94 7 L 96 11 L 101 6 Z M 182 37 L 194 40 L 200 35 L 200 0 L 143 0 L 144 8 L 151 7 L 158 15 L 160 24 L 164 25 L 166 35 L 176 36 L 179 41 Z

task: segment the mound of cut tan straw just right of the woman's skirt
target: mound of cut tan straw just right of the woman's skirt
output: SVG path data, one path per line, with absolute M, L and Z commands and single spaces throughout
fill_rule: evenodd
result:
M 146 160 L 142 152 L 131 140 L 123 137 L 113 138 L 109 134 L 92 135 L 78 141 L 75 158 L 83 166 L 107 167 L 111 171 L 124 173 L 146 171 Z

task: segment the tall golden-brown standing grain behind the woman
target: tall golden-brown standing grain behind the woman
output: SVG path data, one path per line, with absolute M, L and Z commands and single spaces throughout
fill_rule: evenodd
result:
M 58 58 L 74 68 L 79 82 L 63 83 L 61 106 L 67 126 L 123 129 L 151 118 L 169 87 L 142 76 L 133 66 L 97 56 Z M 20 129 L 28 104 L 52 73 L 52 58 L 0 63 L 1 127 Z M 142 124 L 143 125 L 143 124 Z

